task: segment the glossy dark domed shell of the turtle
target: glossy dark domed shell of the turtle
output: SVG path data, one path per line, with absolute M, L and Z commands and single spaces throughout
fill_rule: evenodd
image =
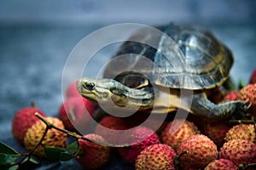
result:
M 195 90 L 218 87 L 227 79 L 232 54 L 206 28 L 173 24 L 156 28 L 139 30 L 125 41 L 104 77 L 129 84 L 132 78 L 127 75 L 137 72 L 156 85 Z

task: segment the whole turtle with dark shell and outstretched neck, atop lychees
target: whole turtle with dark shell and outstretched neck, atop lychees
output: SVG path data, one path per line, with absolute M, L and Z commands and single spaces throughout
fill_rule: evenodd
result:
M 209 119 L 245 116 L 247 101 L 217 105 L 207 99 L 230 80 L 234 59 L 224 43 L 203 26 L 168 24 L 155 29 L 160 33 L 140 29 L 131 35 L 102 78 L 80 78 L 79 94 L 124 110 L 160 114 L 182 109 Z

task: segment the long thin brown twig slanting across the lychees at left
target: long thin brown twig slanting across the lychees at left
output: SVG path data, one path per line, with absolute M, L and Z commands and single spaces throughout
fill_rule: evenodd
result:
M 55 128 L 56 130 L 58 131 L 61 131 L 62 133 L 66 133 L 67 135 L 69 136 L 73 136 L 74 138 L 76 139 L 83 139 L 83 140 L 86 140 L 86 141 L 89 141 L 91 143 L 97 143 L 97 144 L 102 144 L 102 145 L 111 145 L 111 144 L 108 144 L 108 143 L 104 143 L 104 142 L 100 142 L 100 141 L 95 141 L 93 139 L 87 139 L 87 138 L 84 138 L 84 136 L 78 134 L 78 133 L 73 133 L 71 131 L 68 131 L 66 129 L 63 129 L 63 128 L 60 128 L 60 127 L 56 127 L 54 124 L 48 122 L 44 116 L 41 116 L 38 112 L 35 113 L 35 116 L 37 116 L 42 122 L 45 123 L 45 125 L 50 129 L 50 128 Z M 127 147 L 129 146 L 130 144 L 119 144 L 119 145 L 115 145 L 116 147 Z

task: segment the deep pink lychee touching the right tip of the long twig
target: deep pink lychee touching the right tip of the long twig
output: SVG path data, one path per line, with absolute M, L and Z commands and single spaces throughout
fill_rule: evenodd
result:
M 160 144 L 160 139 L 153 130 L 148 127 L 136 127 L 130 132 L 120 136 L 120 143 L 131 144 L 127 147 L 119 148 L 119 154 L 123 158 L 134 164 L 139 153 L 151 144 Z

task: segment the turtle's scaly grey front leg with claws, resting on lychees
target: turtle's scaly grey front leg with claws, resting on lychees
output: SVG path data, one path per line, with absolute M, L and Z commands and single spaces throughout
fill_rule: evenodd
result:
M 193 95 L 190 111 L 197 116 L 204 116 L 211 119 L 241 119 L 242 116 L 246 115 L 249 108 L 246 104 L 247 101 L 237 100 L 215 105 L 207 99 L 206 94 L 202 93 Z

